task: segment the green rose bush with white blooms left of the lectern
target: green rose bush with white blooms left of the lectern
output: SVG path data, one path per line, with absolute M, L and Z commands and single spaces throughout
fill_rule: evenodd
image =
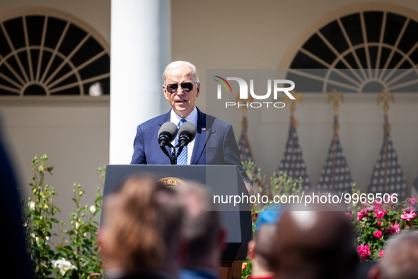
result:
M 45 185 L 45 171 L 52 174 L 53 167 L 46 167 L 47 155 L 32 161 L 33 183 L 30 186 L 33 195 L 28 206 L 24 207 L 25 231 L 28 239 L 28 250 L 33 261 L 36 278 L 51 278 L 56 273 L 58 278 L 96 278 L 103 275 L 103 260 L 98 246 L 98 222 L 95 216 L 102 210 L 102 195 L 97 188 L 93 205 L 81 205 L 84 190 L 81 185 L 73 185 L 76 209 L 71 212 L 69 222 L 71 229 L 66 230 L 64 222 L 59 222 L 54 215 L 59 211 L 54 206 L 54 188 Z M 102 188 L 105 179 L 105 168 L 96 169 Z M 54 233 L 53 223 L 59 234 Z M 59 237 L 60 244 L 52 248 L 50 237 Z

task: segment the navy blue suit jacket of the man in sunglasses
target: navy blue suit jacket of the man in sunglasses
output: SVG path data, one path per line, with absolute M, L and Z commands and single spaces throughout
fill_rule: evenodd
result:
M 158 144 L 158 130 L 168 121 L 170 121 L 170 111 L 137 127 L 131 164 L 170 164 L 170 159 Z M 199 108 L 197 108 L 197 135 L 190 164 L 236 165 L 241 176 L 248 181 L 247 173 L 240 161 L 232 125 L 202 113 Z

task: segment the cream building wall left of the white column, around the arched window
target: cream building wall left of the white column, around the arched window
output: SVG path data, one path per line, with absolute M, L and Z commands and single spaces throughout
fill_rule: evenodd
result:
M 0 16 L 28 7 L 68 13 L 91 25 L 110 44 L 110 0 L 6 0 L 0 1 Z M 95 190 L 100 186 L 95 168 L 109 161 L 110 113 L 108 97 L 93 102 L 62 100 L 42 101 L 40 97 L 22 103 L 0 99 L 0 123 L 25 200 L 30 195 L 32 158 L 47 154 L 47 165 L 54 170 L 52 176 L 45 175 L 45 182 L 58 194 L 55 204 L 62 212 L 57 212 L 57 219 L 68 220 L 75 208 L 71 200 L 74 182 L 81 183 L 86 191 L 82 205 L 95 200 Z

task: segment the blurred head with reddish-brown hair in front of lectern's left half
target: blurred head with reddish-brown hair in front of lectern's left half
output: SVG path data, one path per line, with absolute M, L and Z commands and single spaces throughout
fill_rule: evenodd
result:
M 183 207 L 173 189 L 153 178 L 130 178 L 104 206 L 99 241 L 111 277 L 177 275 L 184 258 Z

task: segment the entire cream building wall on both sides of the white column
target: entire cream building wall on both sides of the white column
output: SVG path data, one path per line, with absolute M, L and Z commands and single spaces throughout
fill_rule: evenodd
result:
M 173 0 L 172 59 L 187 60 L 197 66 L 202 83 L 197 105 L 206 110 L 206 69 L 286 67 L 281 65 L 284 55 L 310 25 L 339 8 L 364 3 L 368 1 Z M 379 5 L 385 3 L 418 12 L 418 1 L 390 0 Z M 76 16 L 110 42 L 110 0 L 4 0 L 0 1 L 0 15 L 28 6 L 55 8 Z M 341 105 L 340 138 L 354 180 L 365 188 L 382 144 L 383 109 L 374 99 L 359 100 Z M 407 183 L 411 185 L 418 170 L 417 100 L 395 102 L 389 110 L 392 137 Z M 219 116 L 233 124 L 238 137 L 240 113 Z M 325 97 L 323 101 L 306 98 L 295 116 L 308 173 L 316 183 L 331 140 L 332 108 Z M 109 159 L 108 102 L 16 105 L 0 100 L 0 117 L 23 184 L 30 182 L 30 160 L 35 154 L 47 153 L 49 164 L 55 166 L 47 182 L 59 194 L 57 205 L 63 210 L 59 219 L 66 220 L 74 208 L 70 198 L 74 182 L 83 185 L 87 191 L 84 200 L 91 203 L 99 186 L 95 168 L 108 164 Z M 248 113 L 253 154 L 267 176 L 277 169 L 284 152 L 288 118 L 288 109 L 274 115 L 257 110 Z M 264 136 L 271 131 L 277 131 L 274 137 Z

